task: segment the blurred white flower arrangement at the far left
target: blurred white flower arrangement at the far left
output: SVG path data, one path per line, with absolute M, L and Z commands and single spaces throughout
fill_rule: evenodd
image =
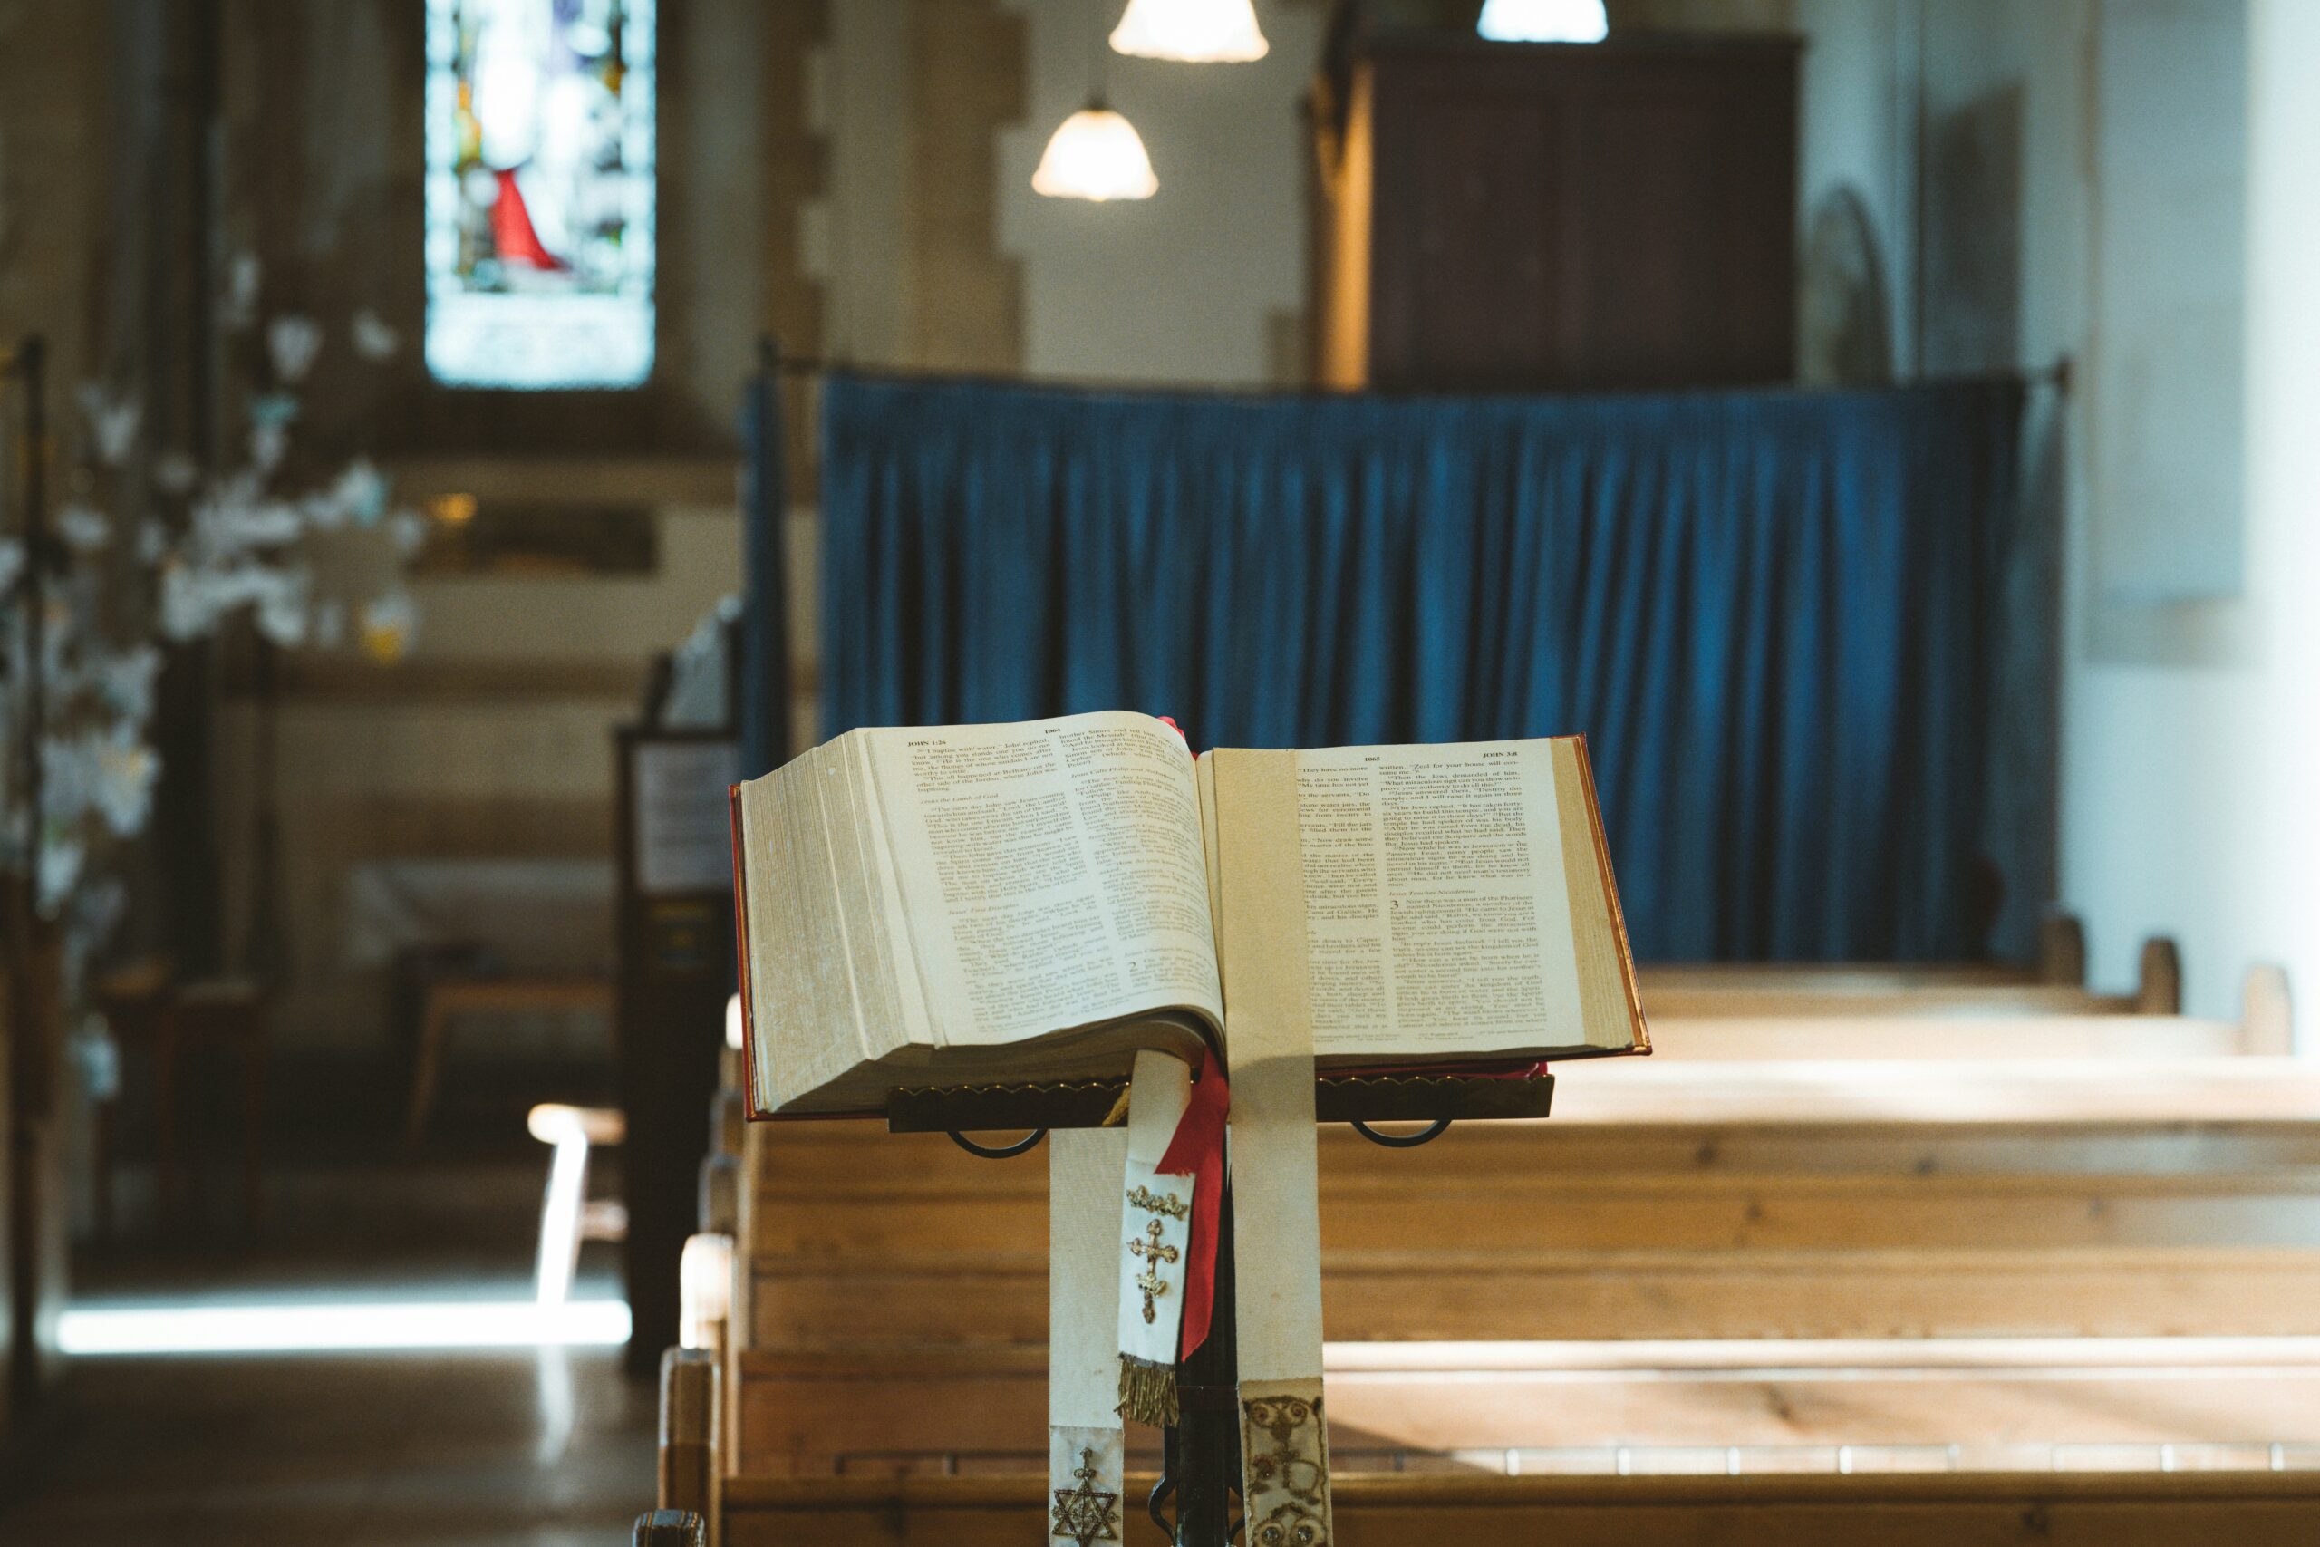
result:
M 19 536 L 0 538 L 0 642 L 9 645 L 0 649 L 0 745 L 9 749 L 0 758 L 0 870 L 37 879 L 42 912 L 67 921 L 70 965 L 86 963 L 123 914 L 125 888 L 104 872 L 107 851 L 153 819 L 160 754 L 148 733 L 167 647 L 248 619 L 274 647 L 334 649 L 353 617 L 360 645 L 392 663 L 418 631 L 406 571 L 425 522 L 392 508 L 378 466 L 355 457 L 318 487 L 276 487 L 299 417 L 292 387 L 322 357 L 325 329 L 302 315 L 260 320 L 253 260 L 232 264 L 223 318 L 230 329 L 255 329 L 253 359 L 271 383 L 248 401 L 244 466 L 204 475 L 183 452 L 142 443 L 135 399 L 100 385 L 77 394 L 81 471 L 51 513 L 53 545 L 39 578 L 39 833 L 23 789 L 30 554 Z M 376 364 L 397 336 L 362 308 L 348 343 Z M 139 480 L 151 501 L 130 499 Z M 153 501 L 179 520 L 135 515 Z M 383 559 L 353 594 L 348 566 L 325 564 L 320 552 L 343 547 L 334 533 L 350 529 L 380 529 L 367 550 Z

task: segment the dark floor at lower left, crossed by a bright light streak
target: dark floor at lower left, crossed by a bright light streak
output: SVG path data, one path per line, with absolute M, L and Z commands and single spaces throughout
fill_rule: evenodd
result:
M 109 1303 L 520 1299 L 536 1176 L 292 1181 L 262 1252 L 128 1255 L 81 1280 Z M 615 1287 L 592 1259 L 582 1292 Z M 654 1392 L 617 1348 L 79 1359 L 37 1424 L 0 1477 L 0 1542 L 615 1547 L 654 1484 Z

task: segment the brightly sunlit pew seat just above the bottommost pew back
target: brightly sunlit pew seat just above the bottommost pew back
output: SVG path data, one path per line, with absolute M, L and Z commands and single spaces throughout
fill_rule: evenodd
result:
M 759 1352 L 742 1378 L 742 1473 L 1037 1470 L 1044 1454 L 1039 1348 Z M 1327 1378 L 1329 1447 L 1355 1468 L 1643 1470 L 1745 1447 L 1761 1468 L 1819 1452 L 1835 1470 L 1837 1447 L 1958 1436 L 1977 1436 L 1960 1466 L 2051 1466 L 2056 1447 L 2146 1447 L 2155 1464 L 2160 1445 L 2209 1464 L 2269 1466 L 2274 1445 L 2320 1461 L 2308 1336 L 1329 1343 Z

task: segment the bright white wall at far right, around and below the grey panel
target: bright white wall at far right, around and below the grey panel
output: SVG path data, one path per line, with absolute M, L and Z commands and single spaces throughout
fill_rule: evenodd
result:
M 2250 0 L 2248 67 L 2248 429 L 2243 448 L 2216 448 L 2246 457 L 2243 647 L 2216 663 L 2111 649 L 2093 626 L 2102 601 L 2086 575 L 2088 538 L 2104 517 L 2086 501 L 2074 526 L 2065 680 L 2065 898 L 2090 923 L 2095 969 L 2111 976 L 2127 969 L 2141 932 L 2174 932 L 2199 1014 L 2232 1014 L 2239 974 L 2257 960 L 2285 963 L 2306 1004 L 2320 995 L 2320 299 L 2311 278 L 2320 97 L 2308 88 L 2320 67 L 2320 7 Z M 2299 1027 L 2311 1025 L 2311 1014 L 2299 1016 Z

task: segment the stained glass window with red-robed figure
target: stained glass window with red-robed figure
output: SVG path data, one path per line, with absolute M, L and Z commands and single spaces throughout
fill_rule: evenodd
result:
M 654 0 L 425 0 L 427 369 L 652 373 Z

